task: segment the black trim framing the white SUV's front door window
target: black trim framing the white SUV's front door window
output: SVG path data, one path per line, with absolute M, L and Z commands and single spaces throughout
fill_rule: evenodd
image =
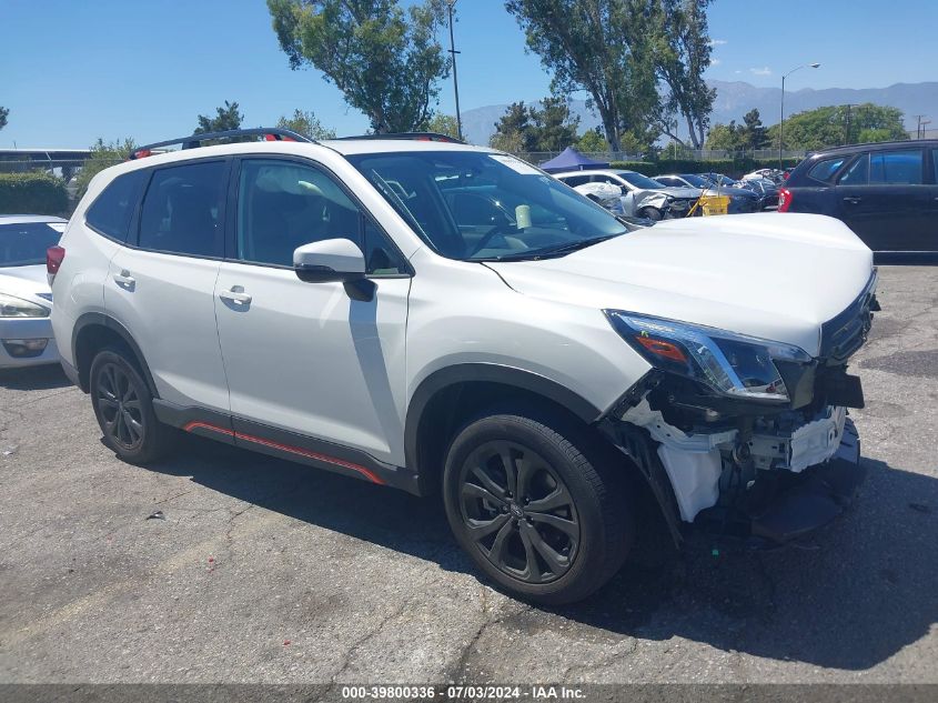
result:
M 411 264 L 410 260 L 403 254 L 400 247 L 397 247 L 397 242 L 394 241 L 394 238 L 387 233 L 387 230 L 381 225 L 377 219 L 371 213 L 364 203 L 349 189 L 345 182 L 339 178 L 339 175 L 330 169 L 327 165 L 322 163 L 321 161 L 316 161 L 315 159 L 311 159 L 309 157 L 301 157 L 297 154 L 284 154 L 284 153 L 250 153 L 250 154 L 235 154 L 233 157 L 234 163 L 232 164 L 231 170 L 231 178 L 229 179 L 228 183 L 228 203 L 229 210 L 232 212 L 231 218 L 226 218 L 225 221 L 225 232 L 224 232 L 224 257 L 223 261 L 229 263 L 238 263 L 241 265 L 249 265 L 249 267 L 263 267 L 266 269 L 283 269 L 286 271 L 293 271 L 293 267 L 283 263 L 266 263 L 263 261 L 246 261 L 244 259 L 238 258 L 238 193 L 239 193 L 239 184 L 241 181 L 241 167 L 244 161 L 286 161 L 290 163 L 296 163 L 302 165 L 312 167 L 314 169 L 319 169 L 323 173 L 325 173 L 329 178 L 333 180 L 333 182 L 339 187 L 339 189 L 345 194 L 345 197 L 351 200 L 356 208 L 359 208 L 360 213 L 367 218 L 372 225 L 384 237 L 385 241 L 391 244 L 394 252 L 399 255 L 400 260 L 404 262 L 404 267 L 406 267 L 406 271 L 404 273 L 371 273 L 366 274 L 365 279 L 367 280 L 381 280 L 381 279 L 411 279 L 416 275 L 414 271 L 413 264 Z M 363 228 L 362 228 L 363 229 Z M 364 237 L 364 232 L 362 232 Z M 364 243 L 364 241 L 362 242 Z

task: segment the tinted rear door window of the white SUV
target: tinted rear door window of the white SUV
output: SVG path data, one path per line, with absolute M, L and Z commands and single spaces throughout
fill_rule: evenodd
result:
M 228 163 L 202 161 L 153 173 L 140 213 L 142 249 L 194 257 L 224 253 Z

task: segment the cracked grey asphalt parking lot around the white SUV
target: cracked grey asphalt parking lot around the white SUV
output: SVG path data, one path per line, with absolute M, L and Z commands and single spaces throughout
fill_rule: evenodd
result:
M 433 501 L 195 438 L 130 466 L 58 369 L 6 373 L 0 682 L 938 682 L 938 269 L 880 273 L 855 510 L 558 610 L 484 585 Z

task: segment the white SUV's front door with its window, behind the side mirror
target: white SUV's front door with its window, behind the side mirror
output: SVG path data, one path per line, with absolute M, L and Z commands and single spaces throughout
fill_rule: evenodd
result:
M 235 432 L 288 431 L 403 465 L 409 264 L 319 165 L 243 159 L 235 178 L 231 251 L 215 287 Z M 294 249 L 336 238 L 365 253 L 370 300 L 293 271 Z

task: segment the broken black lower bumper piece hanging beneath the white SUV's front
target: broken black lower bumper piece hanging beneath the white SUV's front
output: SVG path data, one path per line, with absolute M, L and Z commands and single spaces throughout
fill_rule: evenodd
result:
M 786 476 L 787 485 L 767 503 L 749 511 L 753 546 L 798 540 L 830 523 L 848 509 L 866 478 L 860 463 L 860 440 L 850 420 L 840 446 L 828 461 Z

